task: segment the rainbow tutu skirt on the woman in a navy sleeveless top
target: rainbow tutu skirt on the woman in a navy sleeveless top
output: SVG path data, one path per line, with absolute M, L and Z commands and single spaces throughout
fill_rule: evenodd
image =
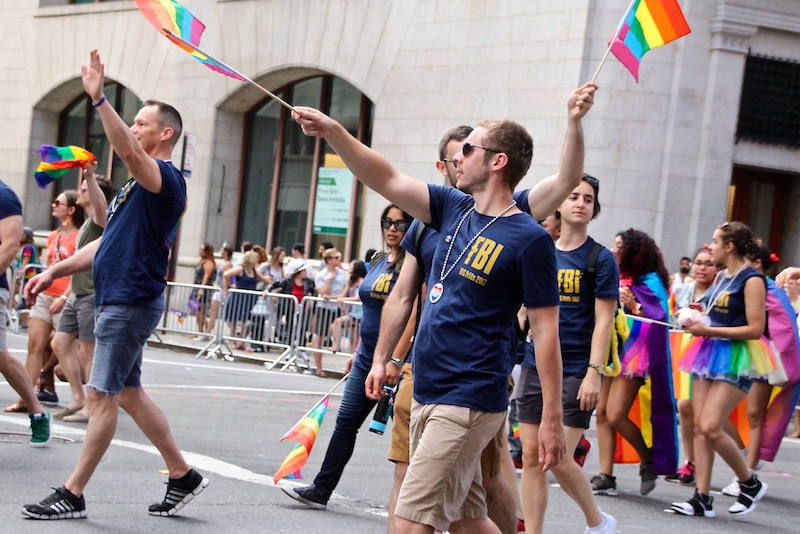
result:
M 683 344 L 678 367 L 702 379 L 765 378 L 775 369 L 775 351 L 763 336 L 745 341 L 695 337 Z

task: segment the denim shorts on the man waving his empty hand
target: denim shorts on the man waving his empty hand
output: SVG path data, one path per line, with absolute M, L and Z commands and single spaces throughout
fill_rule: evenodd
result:
M 112 394 L 122 393 L 126 387 L 141 387 L 142 349 L 163 310 L 162 296 L 135 306 L 97 307 L 89 387 Z

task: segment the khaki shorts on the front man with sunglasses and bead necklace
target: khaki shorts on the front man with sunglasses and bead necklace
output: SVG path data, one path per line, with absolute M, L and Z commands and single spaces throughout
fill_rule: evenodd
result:
M 480 454 L 505 418 L 506 412 L 412 401 L 411 463 L 395 515 L 439 530 L 487 517 Z

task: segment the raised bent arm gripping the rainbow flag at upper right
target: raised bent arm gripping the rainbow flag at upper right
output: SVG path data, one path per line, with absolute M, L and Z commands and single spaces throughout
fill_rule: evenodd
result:
M 561 148 L 558 173 L 536 184 L 528 194 L 531 216 L 537 221 L 555 213 L 558 207 L 581 183 L 583 176 L 583 126 L 581 119 L 594 103 L 597 86 L 587 83 L 572 91 L 567 100 L 567 132 Z

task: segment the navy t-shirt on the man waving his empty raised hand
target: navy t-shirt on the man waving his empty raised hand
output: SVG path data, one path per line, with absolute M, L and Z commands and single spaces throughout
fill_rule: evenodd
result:
M 108 205 L 108 224 L 92 264 L 98 306 L 141 304 L 164 291 L 169 249 L 186 209 L 186 182 L 172 162 L 156 163 L 161 193 L 131 178 Z

